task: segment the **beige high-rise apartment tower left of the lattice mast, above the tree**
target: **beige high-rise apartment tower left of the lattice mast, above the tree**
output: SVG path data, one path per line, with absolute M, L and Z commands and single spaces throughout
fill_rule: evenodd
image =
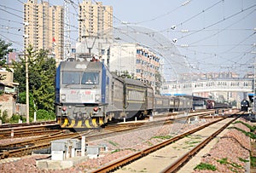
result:
M 24 3 L 24 47 L 47 49 L 61 61 L 64 56 L 64 8 L 48 2 L 28 0 Z

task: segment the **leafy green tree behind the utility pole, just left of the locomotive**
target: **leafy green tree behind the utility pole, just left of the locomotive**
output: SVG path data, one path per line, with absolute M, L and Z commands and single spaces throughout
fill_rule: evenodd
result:
M 43 49 L 38 52 L 34 51 L 32 46 L 26 49 L 29 92 L 32 94 L 30 96 L 33 99 L 32 103 L 36 105 L 33 107 L 34 104 L 30 104 L 30 109 L 44 109 L 53 112 L 55 109 L 55 59 L 49 58 L 47 55 L 48 51 Z M 22 93 L 26 92 L 26 61 L 24 57 L 20 58 L 20 61 L 13 62 L 13 65 L 14 81 L 20 83 L 19 92 Z

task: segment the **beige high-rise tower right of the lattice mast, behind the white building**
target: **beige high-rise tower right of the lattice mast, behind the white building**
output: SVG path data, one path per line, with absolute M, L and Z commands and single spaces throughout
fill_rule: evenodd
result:
M 113 29 L 113 8 L 84 0 L 79 4 L 79 42 L 84 37 L 110 37 Z

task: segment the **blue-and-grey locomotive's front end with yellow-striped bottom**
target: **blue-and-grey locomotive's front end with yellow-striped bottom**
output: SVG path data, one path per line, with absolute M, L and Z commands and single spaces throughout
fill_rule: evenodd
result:
M 61 128 L 104 124 L 106 68 L 99 61 L 63 61 L 55 78 L 55 112 Z

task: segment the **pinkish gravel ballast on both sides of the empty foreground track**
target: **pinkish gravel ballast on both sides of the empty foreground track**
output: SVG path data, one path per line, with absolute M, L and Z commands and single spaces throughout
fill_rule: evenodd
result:
M 102 140 L 90 141 L 88 145 L 107 145 L 108 152 L 102 152 L 97 159 L 88 159 L 82 164 L 77 164 L 72 168 L 65 170 L 39 170 L 36 166 L 37 159 L 46 159 L 49 155 L 32 155 L 26 156 L 9 163 L 0 164 L 1 172 L 89 172 L 90 170 L 99 168 L 103 164 L 125 157 L 125 155 L 141 151 L 147 147 L 164 141 L 158 136 L 175 136 L 187 130 L 191 130 L 199 125 L 206 124 L 209 121 L 216 120 L 215 118 L 207 118 L 195 124 L 184 124 L 176 122 L 174 124 L 166 124 L 160 127 L 154 127 L 146 130 L 134 130 L 120 136 L 108 137 Z M 235 124 L 236 127 L 242 130 L 249 131 L 243 124 Z M 1 143 L 1 140 L 0 140 Z M 234 172 L 230 170 L 232 164 L 239 165 L 238 172 L 244 172 L 246 165 L 244 160 L 249 158 L 250 139 L 241 131 L 230 129 L 228 133 L 221 138 L 215 147 L 207 154 L 207 157 L 202 158 L 201 162 L 209 163 L 216 166 L 218 172 Z M 221 164 L 221 161 L 227 161 Z M 220 160 L 220 161 L 219 161 Z M 1 162 L 0 162 L 1 163 Z M 195 170 L 195 172 L 212 172 L 210 170 Z

